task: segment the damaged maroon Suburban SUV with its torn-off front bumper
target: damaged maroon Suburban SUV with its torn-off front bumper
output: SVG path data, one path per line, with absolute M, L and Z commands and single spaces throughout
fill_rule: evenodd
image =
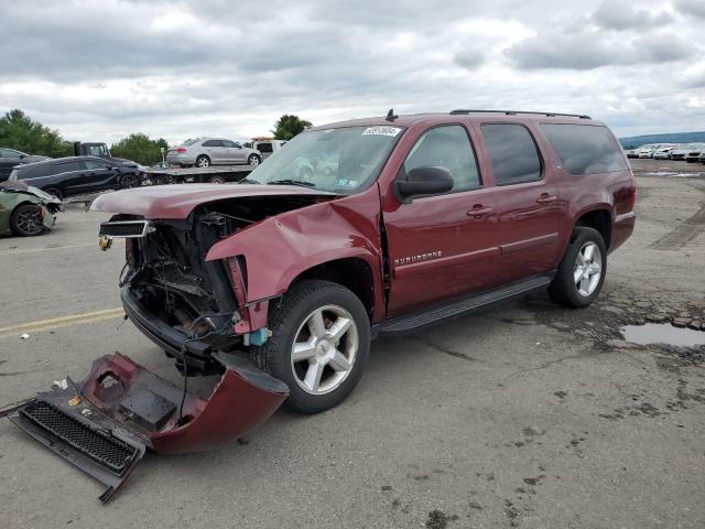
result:
M 145 449 L 214 446 L 284 401 L 336 406 L 378 336 L 546 288 L 588 305 L 633 205 L 605 125 L 478 110 L 316 127 L 236 185 L 104 195 L 93 209 L 115 214 L 104 246 L 126 241 L 126 314 L 184 387 L 116 355 L 11 419 L 111 494 Z M 186 391 L 196 375 L 221 376 L 209 399 Z

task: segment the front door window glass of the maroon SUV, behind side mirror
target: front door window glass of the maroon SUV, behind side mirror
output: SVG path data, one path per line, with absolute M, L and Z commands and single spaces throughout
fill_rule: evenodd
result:
M 436 127 L 425 132 L 413 147 L 404 171 L 423 166 L 441 166 L 451 172 L 453 190 L 451 193 L 475 190 L 480 186 L 479 172 L 473 144 L 459 125 Z

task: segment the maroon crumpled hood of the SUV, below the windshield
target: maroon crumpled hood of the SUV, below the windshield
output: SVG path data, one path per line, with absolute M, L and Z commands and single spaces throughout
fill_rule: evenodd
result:
M 297 185 L 258 184 L 177 184 L 134 187 L 107 193 L 96 198 L 90 209 L 96 212 L 139 215 L 147 219 L 186 218 L 191 212 L 210 202 L 257 196 L 336 196 L 325 191 Z

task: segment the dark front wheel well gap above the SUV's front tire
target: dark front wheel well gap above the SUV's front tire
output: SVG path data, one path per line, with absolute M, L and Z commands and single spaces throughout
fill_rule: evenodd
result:
M 317 264 L 300 273 L 292 284 L 306 279 L 321 279 L 341 284 L 357 295 L 372 319 L 375 309 L 375 281 L 372 269 L 362 259 L 347 258 Z

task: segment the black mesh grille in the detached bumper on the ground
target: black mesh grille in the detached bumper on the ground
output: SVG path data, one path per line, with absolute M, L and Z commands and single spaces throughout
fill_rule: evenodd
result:
M 137 453 L 135 447 L 109 433 L 85 425 L 47 402 L 30 402 L 20 413 L 118 475 Z

